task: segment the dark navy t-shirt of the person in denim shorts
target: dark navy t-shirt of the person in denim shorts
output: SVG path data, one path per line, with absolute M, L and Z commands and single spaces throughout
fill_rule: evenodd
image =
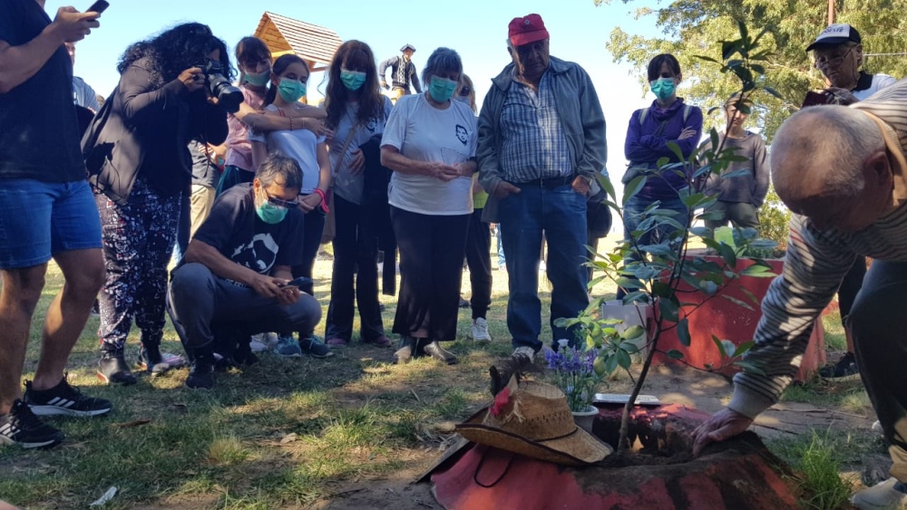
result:
M 0 0 L 0 40 L 21 46 L 51 19 L 34 0 Z M 73 104 L 73 63 L 63 44 L 34 76 L 0 94 L 0 179 L 85 178 Z

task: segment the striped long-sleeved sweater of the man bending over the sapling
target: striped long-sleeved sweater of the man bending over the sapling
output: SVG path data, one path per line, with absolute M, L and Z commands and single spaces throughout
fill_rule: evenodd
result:
M 774 404 L 793 380 L 816 318 L 831 302 L 857 255 L 907 262 L 907 80 L 874 94 L 852 108 L 883 121 L 892 158 L 895 209 L 859 232 L 816 229 L 807 217 L 794 215 L 783 274 L 775 278 L 762 302 L 756 346 L 746 354 L 766 375 L 741 372 L 734 377 L 728 408 L 750 418 Z

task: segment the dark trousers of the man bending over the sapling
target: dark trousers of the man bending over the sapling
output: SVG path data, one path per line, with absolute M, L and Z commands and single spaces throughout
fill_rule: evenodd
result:
M 873 261 L 847 318 L 863 384 L 907 482 L 907 263 Z

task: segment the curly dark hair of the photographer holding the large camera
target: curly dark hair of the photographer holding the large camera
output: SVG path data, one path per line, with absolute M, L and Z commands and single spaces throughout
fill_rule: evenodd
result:
M 139 59 L 147 59 L 154 90 L 175 80 L 180 72 L 204 63 L 214 50 L 220 50 L 220 67 L 224 76 L 232 80 L 235 71 L 227 44 L 215 37 L 208 25 L 200 23 L 178 24 L 151 39 L 133 43 L 122 53 L 116 69 L 122 74 Z

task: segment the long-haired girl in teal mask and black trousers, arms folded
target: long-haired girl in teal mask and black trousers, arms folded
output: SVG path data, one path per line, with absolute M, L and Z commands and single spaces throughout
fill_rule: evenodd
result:
M 375 54 L 362 41 L 347 41 L 337 48 L 327 70 L 325 110 L 327 127 L 335 136 L 328 148 L 333 171 L 335 217 L 334 268 L 331 301 L 327 306 L 327 345 L 353 342 L 356 311 L 359 314 L 359 342 L 389 347 L 378 303 L 378 242 L 387 236 L 390 218 L 386 198 L 387 180 L 380 177 L 380 161 L 366 162 L 360 146 L 375 146 L 385 130 L 392 108 L 390 98 L 381 94 Z M 373 150 L 371 154 L 375 154 Z M 366 164 L 372 171 L 366 180 Z M 373 180 L 374 179 L 374 180 Z M 382 226 L 385 226 L 382 228 Z M 386 246 L 386 243 L 384 244 Z M 388 284 L 385 280 L 385 289 Z

